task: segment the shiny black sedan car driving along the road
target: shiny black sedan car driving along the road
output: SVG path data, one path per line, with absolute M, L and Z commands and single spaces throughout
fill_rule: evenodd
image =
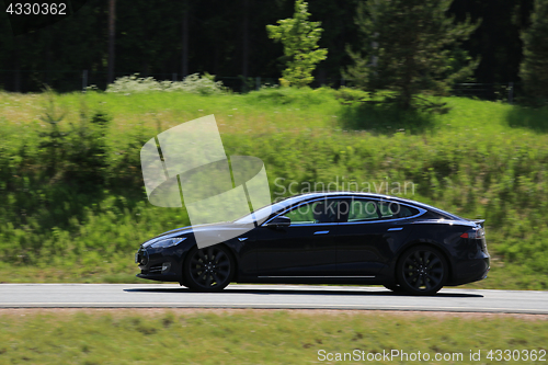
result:
M 198 249 L 198 231 L 232 238 Z M 164 232 L 142 243 L 135 261 L 138 277 L 199 292 L 237 282 L 381 284 L 432 295 L 444 285 L 486 278 L 490 256 L 483 220 L 393 196 L 333 192 Z

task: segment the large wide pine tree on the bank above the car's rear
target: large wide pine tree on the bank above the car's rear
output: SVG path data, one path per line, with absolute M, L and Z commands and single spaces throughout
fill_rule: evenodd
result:
M 472 73 L 478 60 L 465 54 L 455 68 L 463 41 L 479 26 L 469 19 L 455 23 L 447 15 L 453 0 L 369 0 L 355 19 L 363 36 L 361 52 L 347 48 L 354 65 L 346 78 L 372 93 L 392 91 L 389 101 L 413 107 L 426 91 L 443 94 L 452 83 Z

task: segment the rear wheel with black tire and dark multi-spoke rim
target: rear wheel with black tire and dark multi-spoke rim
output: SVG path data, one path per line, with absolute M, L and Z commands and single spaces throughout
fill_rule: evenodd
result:
M 415 246 L 398 261 L 398 283 L 413 295 L 433 295 L 447 281 L 448 264 L 442 252 L 429 246 Z

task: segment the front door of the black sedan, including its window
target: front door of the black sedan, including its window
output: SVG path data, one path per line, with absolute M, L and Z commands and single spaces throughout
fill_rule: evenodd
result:
M 248 246 L 256 250 L 256 275 L 335 275 L 339 202 L 328 198 L 304 203 L 282 214 L 292 219 L 290 226 L 274 228 L 266 221 L 255 229 Z

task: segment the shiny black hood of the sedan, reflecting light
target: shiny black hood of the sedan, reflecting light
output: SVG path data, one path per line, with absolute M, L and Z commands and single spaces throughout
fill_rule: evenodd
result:
M 253 225 L 237 225 L 231 221 L 225 221 L 225 223 L 216 223 L 216 224 L 208 224 L 208 225 L 196 225 L 196 226 L 186 226 L 186 227 L 181 227 L 172 230 L 168 230 L 163 233 L 160 233 L 144 243 L 141 243 L 141 247 L 146 248 L 149 247 L 150 244 L 168 239 L 168 238 L 176 238 L 176 237 L 189 237 L 189 236 L 194 236 L 196 232 L 201 233 L 209 233 L 212 237 L 217 237 L 218 241 L 225 241 L 226 239 L 230 239 L 240 235 L 243 235 L 247 231 L 250 231 L 253 229 Z

